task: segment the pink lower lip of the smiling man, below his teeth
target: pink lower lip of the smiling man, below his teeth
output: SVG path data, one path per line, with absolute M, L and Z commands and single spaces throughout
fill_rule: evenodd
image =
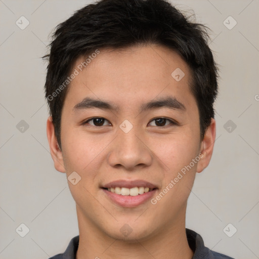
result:
M 150 192 L 145 192 L 143 194 L 139 194 L 136 196 L 131 195 L 120 195 L 113 192 L 110 192 L 106 189 L 102 189 L 106 195 L 116 204 L 122 206 L 122 207 L 137 207 L 143 203 L 145 203 L 147 200 L 150 200 L 152 196 L 154 196 L 157 189 L 154 189 Z

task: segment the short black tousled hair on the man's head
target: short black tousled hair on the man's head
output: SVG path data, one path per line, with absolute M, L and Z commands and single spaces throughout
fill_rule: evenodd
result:
M 104 48 L 148 44 L 174 50 L 189 66 L 190 89 L 199 109 L 203 139 L 214 118 L 213 103 L 218 94 L 218 67 L 208 46 L 207 29 L 203 24 L 191 22 L 165 0 L 101 0 L 77 10 L 57 25 L 49 45 L 50 54 L 42 58 L 49 61 L 45 97 L 59 147 L 67 78 L 77 58 Z

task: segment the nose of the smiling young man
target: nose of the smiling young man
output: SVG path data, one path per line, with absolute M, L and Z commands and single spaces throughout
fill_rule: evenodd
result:
M 141 137 L 142 136 L 142 137 Z M 152 152 L 148 143 L 135 127 L 128 133 L 118 130 L 118 136 L 110 146 L 108 163 L 113 167 L 124 167 L 134 170 L 136 167 L 150 166 L 152 163 Z

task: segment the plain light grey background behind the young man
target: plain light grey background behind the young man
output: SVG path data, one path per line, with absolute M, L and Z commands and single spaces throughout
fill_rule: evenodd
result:
M 78 235 L 66 176 L 55 170 L 49 152 L 46 64 L 40 57 L 51 30 L 89 3 L 0 0 L 1 259 L 49 258 Z M 221 65 L 217 141 L 210 165 L 196 176 L 186 227 L 210 249 L 259 258 L 259 0 L 172 3 L 194 10 L 197 21 L 212 29 L 210 47 Z M 16 25 L 21 16 L 30 22 L 24 30 Z M 223 23 L 229 16 L 237 21 L 231 30 Z M 16 127 L 21 120 L 29 125 L 24 133 Z M 237 125 L 231 133 L 224 128 L 228 120 Z M 21 223 L 29 228 L 25 237 L 16 232 Z M 232 237 L 223 231 L 229 223 L 237 229 Z

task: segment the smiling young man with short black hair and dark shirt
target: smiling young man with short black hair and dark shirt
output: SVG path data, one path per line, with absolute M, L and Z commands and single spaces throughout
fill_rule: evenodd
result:
M 58 25 L 47 135 L 79 236 L 51 258 L 231 258 L 185 228 L 215 140 L 206 36 L 163 0 L 102 0 Z

